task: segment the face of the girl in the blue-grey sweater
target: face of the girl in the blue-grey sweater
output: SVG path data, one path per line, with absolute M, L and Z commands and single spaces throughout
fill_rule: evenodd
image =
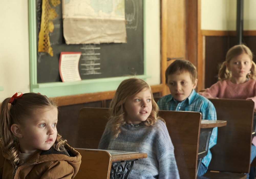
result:
M 139 124 L 145 121 L 152 111 L 150 89 L 144 88 L 134 96 L 128 97 L 124 103 L 125 121 L 129 124 Z

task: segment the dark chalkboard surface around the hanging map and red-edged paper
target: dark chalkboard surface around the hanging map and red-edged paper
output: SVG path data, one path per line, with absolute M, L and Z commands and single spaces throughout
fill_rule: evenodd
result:
M 124 0 L 127 20 L 127 43 L 69 44 L 65 43 L 62 28 L 62 4 L 55 7 L 58 17 L 53 20 L 54 31 L 49 33 L 53 57 L 37 52 L 37 83 L 60 82 L 61 52 L 82 52 L 79 73 L 82 80 L 144 74 L 143 0 Z M 36 1 L 36 34 L 40 31 L 42 0 Z M 85 60 L 91 65 L 84 65 Z M 86 66 L 86 68 L 85 68 Z

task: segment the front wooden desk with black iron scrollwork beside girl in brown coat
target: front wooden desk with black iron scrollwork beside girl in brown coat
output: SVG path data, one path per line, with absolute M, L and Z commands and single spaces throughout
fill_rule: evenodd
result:
M 75 148 L 82 155 L 82 163 L 76 175 L 80 178 L 127 179 L 138 159 L 147 158 L 146 153 L 117 150 Z M 122 163 L 125 163 L 122 165 Z

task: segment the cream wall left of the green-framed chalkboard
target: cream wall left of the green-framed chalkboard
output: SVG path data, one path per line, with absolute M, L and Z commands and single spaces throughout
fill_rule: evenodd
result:
M 0 102 L 29 92 L 28 4 L 0 1 Z

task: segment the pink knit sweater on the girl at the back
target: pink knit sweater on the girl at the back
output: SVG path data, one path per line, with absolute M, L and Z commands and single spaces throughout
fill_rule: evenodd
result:
M 206 98 L 252 99 L 256 109 L 256 80 L 242 84 L 234 84 L 230 80 L 218 81 L 199 94 Z

